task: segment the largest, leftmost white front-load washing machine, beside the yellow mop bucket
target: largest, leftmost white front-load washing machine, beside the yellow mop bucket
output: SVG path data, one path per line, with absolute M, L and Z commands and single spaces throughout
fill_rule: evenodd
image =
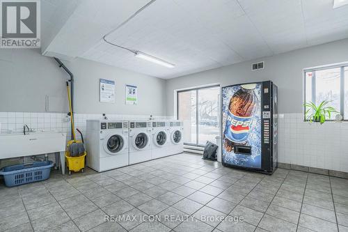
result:
M 129 164 L 128 121 L 87 120 L 87 166 L 106 171 Z

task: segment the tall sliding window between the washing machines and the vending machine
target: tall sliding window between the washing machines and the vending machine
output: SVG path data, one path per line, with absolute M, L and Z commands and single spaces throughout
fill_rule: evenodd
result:
M 219 135 L 220 87 L 177 92 L 177 118 L 184 121 L 184 144 L 203 146 Z

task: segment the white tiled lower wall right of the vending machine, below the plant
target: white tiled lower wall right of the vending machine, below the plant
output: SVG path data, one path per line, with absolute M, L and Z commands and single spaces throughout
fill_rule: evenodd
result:
M 308 123 L 303 114 L 280 114 L 278 161 L 348 172 L 348 123 Z

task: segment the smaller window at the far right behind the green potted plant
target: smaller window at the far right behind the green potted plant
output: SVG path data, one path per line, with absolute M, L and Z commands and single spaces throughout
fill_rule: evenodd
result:
M 327 100 L 345 120 L 348 120 L 348 64 L 305 70 L 305 102 Z M 306 109 L 305 109 L 306 111 Z M 338 113 L 337 113 L 338 114 Z M 331 114 L 329 120 L 335 120 Z

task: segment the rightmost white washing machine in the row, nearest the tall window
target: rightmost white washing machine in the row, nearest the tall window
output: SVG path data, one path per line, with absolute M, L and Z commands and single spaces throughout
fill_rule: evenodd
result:
M 169 134 L 171 136 L 171 144 L 169 147 L 170 155 L 184 152 L 184 123 L 182 121 L 169 122 Z

